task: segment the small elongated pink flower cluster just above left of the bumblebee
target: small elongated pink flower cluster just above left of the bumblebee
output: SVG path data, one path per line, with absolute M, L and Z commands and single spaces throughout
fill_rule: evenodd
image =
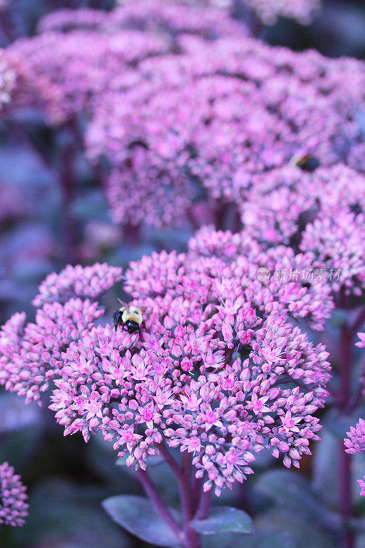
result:
M 68 264 L 59 274 L 47 276 L 32 304 L 39 307 L 54 301 L 65 303 L 70 297 L 99 299 L 121 279 L 122 269 L 105 262 L 85 267 Z

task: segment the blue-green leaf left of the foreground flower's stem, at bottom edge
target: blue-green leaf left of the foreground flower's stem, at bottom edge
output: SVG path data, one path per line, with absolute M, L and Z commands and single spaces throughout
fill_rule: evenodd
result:
M 156 546 L 179 546 L 177 536 L 162 520 L 149 499 L 134 495 L 117 495 L 105 499 L 102 505 L 113 521 L 141 540 Z M 175 510 L 169 510 L 179 519 L 179 514 Z

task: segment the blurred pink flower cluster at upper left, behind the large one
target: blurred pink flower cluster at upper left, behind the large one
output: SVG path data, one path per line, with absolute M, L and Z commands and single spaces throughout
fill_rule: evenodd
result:
M 128 83 L 133 78 L 131 66 L 141 58 L 163 53 L 166 44 L 158 36 L 136 31 L 109 35 L 75 29 L 21 38 L 6 51 L 29 71 L 27 80 L 18 86 L 29 90 L 29 99 L 25 97 L 18 104 L 36 103 L 38 107 L 34 95 L 42 87 L 49 122 L 57 124 L 92 109 L 95 97 L 102 96 L 108 86 L 123 88 L 123 78 L 118 82 L 112 76 L 123 75 Z

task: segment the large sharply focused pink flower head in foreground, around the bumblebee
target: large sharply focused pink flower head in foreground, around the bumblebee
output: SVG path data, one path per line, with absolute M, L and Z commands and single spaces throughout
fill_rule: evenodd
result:
M 330 366 L 325 347 L 289 319 L 320 328 L 332 303 L 320 282 L 257 278 L 261 261 L 287 259 L 285 248 L 268 253 L 243 234 L 203 229 L 187 253 L 131 263 L 125 290 L 143 307 L 140 335 L 95 327 L 97 303 L 46 303 L 36 323 L 16 314 L 3 327 L 1 380 L 39 399 L 54 379 L 51 409 L 65 434 L 101 431 L 142 469 L 166 446 L 188 451 L 217 495 L 252 473 L 262 449 L 299 466 L 318 440 Z

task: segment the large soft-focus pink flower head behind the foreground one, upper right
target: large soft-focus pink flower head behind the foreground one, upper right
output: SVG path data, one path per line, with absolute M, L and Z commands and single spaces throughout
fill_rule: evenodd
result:
M 209 47 L 195 37 L 179 43 L 184 55 L 144 60 L 139 82 L 99 101 L 86 132 L 88 158 L 106 158 L 112 168 L 108 198 L 115 221 L 184 223 L 192 202 L 203 202 L 213 209 L 233 203 L 249 223 L 251 202 L 260 209 L 264 191 L 265 222 L 255 229 L 270 239 L 288 238 L 312 208 L 320 180 L 330 184 L 329 167 L 341 162 L 364 171 L 358 114 L 364 63 L 294 53 L 244 36 Z M 344 74 L 351 89 L 344 87 Z M 293 158 L 306 153 L 318 156 L 319 175 L 303 177 L 294 166 Z M 351 184 L 346 166 L 336 175 Z M 357 186 L 364 184 L 356 177 Z M 294 206 L 288 219 L 286 199 Z

